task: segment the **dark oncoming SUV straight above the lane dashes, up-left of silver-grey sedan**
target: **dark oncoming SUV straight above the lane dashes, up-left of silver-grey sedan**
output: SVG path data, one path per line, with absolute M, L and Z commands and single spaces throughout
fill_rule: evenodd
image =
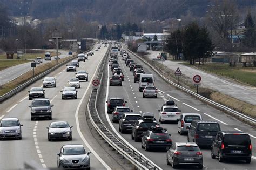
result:
M 53 106 L 48 98 L 33 99 L 29 106 L 31 108 L 31 120 L 35 120 L 35 118 L 49 118 L 51 120 L 51 107 Z

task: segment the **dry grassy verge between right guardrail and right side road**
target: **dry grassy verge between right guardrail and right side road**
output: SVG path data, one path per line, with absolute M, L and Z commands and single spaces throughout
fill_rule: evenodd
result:
M 165 77 L 167 77 L 169 80 L 173 81 L 174 83 L 178 83 L 177 77 L 174 76 L 174 71 L 169 69 L 167 66 L 162 65 L 159 62 L 152 62 L 151 59 L 147 58 L 146 56 L 143 56 L 144 59 L 147 60 L 148 63 L 154 66 L 158 71 L 160 71 Z M 256 76 L 256 75 L 255 75 Z M 255 77 L 254 77 L 255 79 Z M 191 81 L 191 78 L 186 76 L 180 76 L 179 77 L 179 85 L 185 87 L 186 89 L 189 89 L 193 92 L 196 92 L 196 86 L 193 85 L 193 82 Z M 231 108 L 232 110 L 238 111 L 242 114 L 248 115 L 252 118 L 256 118 L 256 106 L 252 104 L 248 104 L 244 101 L 235 99 L 233 97 L 227 96 L 226 94 L 219 93 L 217 91 L 213 91 L 212 89 L 208 88 L 202 88 L 200 87 L 198 89 L 198 93 L 206 97 L 210 100 L 213 100 L 221 105 L 227 106 Z

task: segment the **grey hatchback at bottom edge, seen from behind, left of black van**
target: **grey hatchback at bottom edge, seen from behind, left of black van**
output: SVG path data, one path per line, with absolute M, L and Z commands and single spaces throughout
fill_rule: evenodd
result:
M 203 169 L 203 154 L 194 142 L 176 142 L 172 144 L 166 155 L 167 165 L 196 165 Z

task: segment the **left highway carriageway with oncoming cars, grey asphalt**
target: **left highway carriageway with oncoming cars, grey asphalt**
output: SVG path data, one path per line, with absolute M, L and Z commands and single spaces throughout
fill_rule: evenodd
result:
M 75 72 L 66 72 L 65 66 L 53 71 L 49 76 L 57 79 L 56 88 L 45 88 L 45 97 L 51 100 L 52 121 L 66 120 L 73 126 L 72 141 L 48 141 L 50 120 L 30 120 L 31 100 L 28 100 L 30 87 L 42 86 L 42 80 L 38 80 L 31 86 L 18 93 L 14 97 L 0 104 L 0 119 L 3 117 L 17 117 L 21 121 L 22 140 L 0 141 L 0 169 L 23 169 L 24 162 L 35 161 L 44 168 L 57 167 L 57 155 L 59 149 L 65 144 L 83 144 L 86 151 L 91 151 L 91 169 L 124 169 L 130 168 L 124 160 L 118 160 L 111 148 L 106 147 L 104 141 L 95 133 L 93 127 L 87 124 L 85 109 L 91 91 L 91 80 L 97 76 L 98 65 L 103 59 L 107 47 L 102 47 L 95 55 L 89 56 L 86 62 L 80 62 L 78 70 L 86 70 L 89 73 L 89 81 L 81 82 L 78 89 L 78 99 L 62 100 L 60 91 L 68 80 L 75 77 Z M 10 160 L 12 161 L 9 164 Z M 122 165 L 124 164 L 124 165 Z

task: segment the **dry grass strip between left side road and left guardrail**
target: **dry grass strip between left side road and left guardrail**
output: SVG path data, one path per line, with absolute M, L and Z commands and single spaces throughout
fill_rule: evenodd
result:
M 65 60 L 70 59 L 71 57 L 72 56 L 62 58 L 62 59 L 59 60 L 59 63 L 62 63 Z M 37 66 L 35 68 L 35 76 L 37 76 L 38 74 L 50 69 L 53 66 L 55 66 L 56 63 L 57 63 L 57 61 L 53 60 L 51 62 L 48 62 L 48 63 L 45 63 L 43 65 Z M 0 86 L 0 96 L 2 96 L 3 94 L 11 91 L 12 89 L 15 89 L 19 85 L 22 85 L 25 81 L 28 81 L 32 77 L 33 77 L 33 71 L 30 70 L 30 71 L 26 72 L 25 74 L 22 74 L 22 76 L 19 76 L 15 80 L 12 80 L 9 83 L 6 83 L 6 84 Z

